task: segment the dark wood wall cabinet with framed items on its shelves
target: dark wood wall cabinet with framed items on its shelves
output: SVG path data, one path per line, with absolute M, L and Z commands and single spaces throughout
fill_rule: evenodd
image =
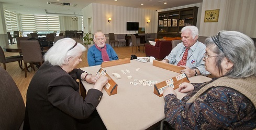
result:
M 196 25 L 198 7 L 158 12 L 158 38 L 181 36 L 186 25 Z

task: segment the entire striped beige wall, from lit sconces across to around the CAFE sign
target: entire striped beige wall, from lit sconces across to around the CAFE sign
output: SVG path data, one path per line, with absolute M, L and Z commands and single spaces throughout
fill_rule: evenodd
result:
M 137 33 L 126 31 L 126 22 L 139 22 L 140 27 L 146 28 L 146 33 L 157 33 L 159 11 L 197 6 L 197 27 L 200 36 L 212 36 L 220 30 L 235 30 L 256 37 L 256 1 L 255 0 L 203 0 L 203 3 L 180 7 L 155 10 L 138 9 L 123 6 L 91 4 L 83 9 L 83 17 L 93 18 L 93 33 L 98 30 L 104 33 Z M 220 9 L 218 22 L 204 22 L 205 10 Z M 108 18 L 112 18 L 110 23 Z M 147 20 L 150 24 L 147 24 Z M 86 20 L 84 20 L 86 28 Z

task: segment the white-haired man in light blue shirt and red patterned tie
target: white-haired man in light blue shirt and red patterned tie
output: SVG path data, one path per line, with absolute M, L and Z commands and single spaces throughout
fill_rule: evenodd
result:
M 182 43 L 174 47 L 171 53 L 162 62 L 184 67 L 181 73 L 188 77 L 208 75 L 203 61 L 206 46 L 197 41 L 198 29 L 195 26 L 186 26 L 181 30 Z

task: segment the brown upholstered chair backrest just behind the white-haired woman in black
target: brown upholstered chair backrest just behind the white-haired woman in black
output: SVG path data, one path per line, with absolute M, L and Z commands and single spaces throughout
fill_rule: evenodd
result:
M 42 62 L 42 52 L 37 40 L 20 41 L 24 63 Z

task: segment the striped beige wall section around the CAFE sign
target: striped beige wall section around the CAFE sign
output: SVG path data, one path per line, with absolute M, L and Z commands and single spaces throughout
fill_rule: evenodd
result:
M 256 37 L 255 0 L 204 0 L 199 35 L 212 36 L 221 30 L 242 32 Z M 204 22 L 205 10 L 220 9 L 218 22 Z

